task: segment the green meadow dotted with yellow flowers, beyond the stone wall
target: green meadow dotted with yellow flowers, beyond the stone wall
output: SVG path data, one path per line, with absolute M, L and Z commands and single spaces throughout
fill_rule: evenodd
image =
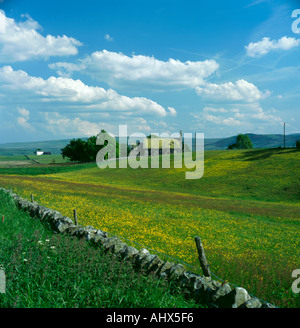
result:
M 99 169 L 95 164 L 0 169 L 0 185 L 40 204 L 186 262 L 200 236 L 211 271 L 281 307 L 300 267 L 300 152 L 206 151 L 204 176 L 185 169 Z

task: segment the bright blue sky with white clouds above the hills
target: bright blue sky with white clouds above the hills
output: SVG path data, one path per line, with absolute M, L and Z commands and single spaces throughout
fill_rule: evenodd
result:
M 299 59 L 299 1 L 0 0 L 0 143 L 297 133 Z

